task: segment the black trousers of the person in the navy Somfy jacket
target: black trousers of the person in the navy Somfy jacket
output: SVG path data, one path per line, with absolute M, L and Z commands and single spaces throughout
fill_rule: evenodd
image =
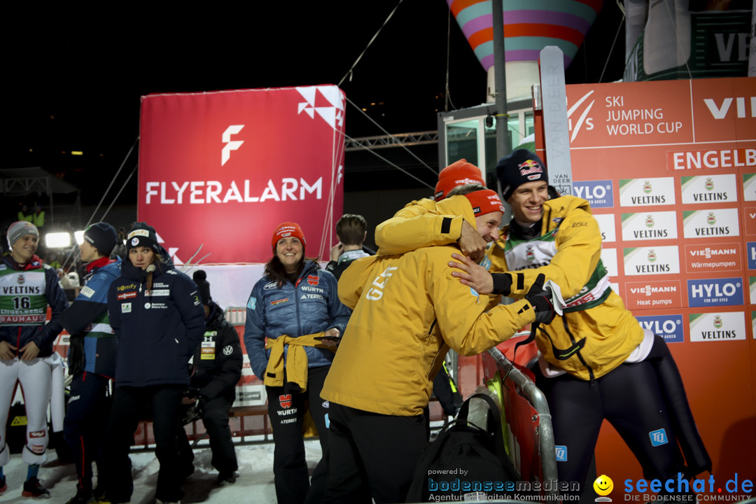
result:
M 150 409 L 153 416 L 155 455 L 160 461 L 155 498 L 164 502 L 177 502 L 184 496 L 181 490 L 181 460 L 178 456 L 176 426 L 185 390 L 185 385 L 116 387 L 105 453 L 107 500 L 116 504 L 131 499 L 134 481 L 129 447 L 134 441 L 139 419 L 144 418 Z

